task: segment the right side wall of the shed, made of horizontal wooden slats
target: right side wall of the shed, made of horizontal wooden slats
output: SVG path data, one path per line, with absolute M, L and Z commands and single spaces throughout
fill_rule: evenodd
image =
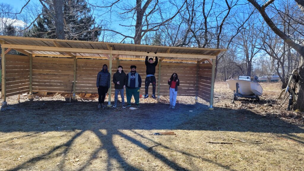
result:
M 212 66 L 209 63 L 199 64 L 198 97 L 210 102 Z

